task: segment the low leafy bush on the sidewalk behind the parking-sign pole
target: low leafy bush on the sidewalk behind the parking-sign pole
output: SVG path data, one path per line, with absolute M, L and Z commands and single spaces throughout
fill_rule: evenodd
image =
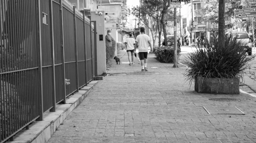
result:
M 153 52 L 158 61 L 163 63 L 173 63 L 174 48 L 173 47 L 154 47 Z M 177 49 L 177 56 L 180 56 L 180 48 Z

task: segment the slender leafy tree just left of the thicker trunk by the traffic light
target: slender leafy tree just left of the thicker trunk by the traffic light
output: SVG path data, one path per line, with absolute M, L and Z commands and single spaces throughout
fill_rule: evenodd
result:
M 162 13 L 160 13 L 162 9 L 162 0 L 144 0 L 142 1 L 143 4 L 137 7 L 132 7 L 131 10 L 129 10 L 129 13 L 141 20 L 147 27 L 150 27 L 150 31 L 153 38 L 153 45 L 155 45 L 155 39 L 157 36 L 157 31 L 159 36 L 162 33 L 162 28 L 160 24 L 160 19 Z M 148 23 L 148 18 L 151 17 L 151 24 Z M 155 31 L 155 32 L 154 32 Z M 160 46 L 161 39 L 159 39 L 159 45 Z

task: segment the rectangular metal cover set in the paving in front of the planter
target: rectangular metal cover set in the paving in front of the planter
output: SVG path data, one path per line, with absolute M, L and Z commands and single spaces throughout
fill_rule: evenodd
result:
M 208 114 L 245 114 L 237 107 L 203 107 Z

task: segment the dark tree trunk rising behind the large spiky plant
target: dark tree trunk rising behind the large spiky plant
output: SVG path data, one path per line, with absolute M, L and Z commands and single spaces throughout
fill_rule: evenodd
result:
M 225 27 L 225 0 L 219 0 L 219 29 L 218 29 L 218 43 L 219 47 L 224 46 L 224 31 Z

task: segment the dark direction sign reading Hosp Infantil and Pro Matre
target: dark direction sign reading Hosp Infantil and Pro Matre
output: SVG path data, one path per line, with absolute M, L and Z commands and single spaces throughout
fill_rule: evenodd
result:
M 248 17 L 256 17 L 256 9 L 248 8 L 242 10 L 235 10 L 235 18 L 248 18 Z

